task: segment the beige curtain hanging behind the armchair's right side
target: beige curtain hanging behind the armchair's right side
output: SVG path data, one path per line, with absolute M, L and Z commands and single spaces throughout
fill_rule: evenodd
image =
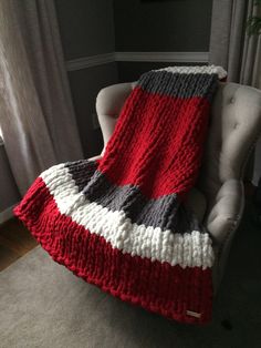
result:
M 247 19 L 261 16 L 254 0 L 213 0 L 210 34 L 210 63 L 228 71 L 228 81 L 261 89 L 261 35 L 249 37 Z M 247 178 L 258 184 L 261 176 L 261 140 L 250 161 Z

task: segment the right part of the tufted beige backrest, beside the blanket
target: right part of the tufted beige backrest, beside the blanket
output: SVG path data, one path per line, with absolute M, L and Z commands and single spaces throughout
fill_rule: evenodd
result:
M 261 135 L 261 91 L 220 83 L 215 94 L 199 187 L 209 201 L 230 178 L 241 178 Z

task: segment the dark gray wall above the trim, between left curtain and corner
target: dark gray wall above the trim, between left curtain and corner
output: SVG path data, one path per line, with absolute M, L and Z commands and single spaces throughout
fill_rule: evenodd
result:
M 112 0 L 55 0 L 66 60 L 114 51 Z

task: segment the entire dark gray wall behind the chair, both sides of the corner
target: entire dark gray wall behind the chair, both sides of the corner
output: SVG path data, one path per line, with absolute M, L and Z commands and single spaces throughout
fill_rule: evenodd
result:
M 55 0 L 66 60 L 113 51 L 208 51 L 211 0 Z M 111 63 L 69 73 L 85 156 L 102 147 L 92 114 L 103 86 L 136 80 L 159 63 Z M 118 80 L 119 75 L 119 80 Z

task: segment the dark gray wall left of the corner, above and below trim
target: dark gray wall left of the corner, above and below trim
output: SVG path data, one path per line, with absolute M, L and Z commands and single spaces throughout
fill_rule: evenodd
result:
M 115 50 L 113 0 L 55 0 L 65 60 Z M 69 72 L 80 136 L 85 157 L 102 149 L 101 130 L 93 116 L 98 91 L 117 82 L 115 63 Z

